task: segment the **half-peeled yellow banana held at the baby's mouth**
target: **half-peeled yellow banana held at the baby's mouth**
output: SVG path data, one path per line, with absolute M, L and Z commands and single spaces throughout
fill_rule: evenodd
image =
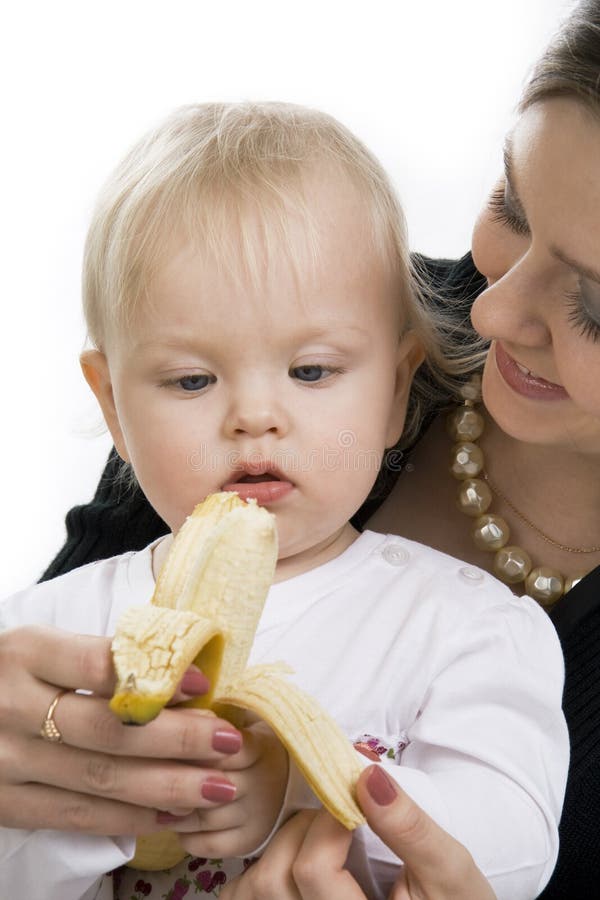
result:
M 121 721 L 144 725 L 195 663 L 210 692 L 186 702 L 234 724 L 250 710 L 271 726 L 323 805 L 352 829 L 365 819 L 354 788 L 362 771 L 334 720 L 285 676 L 282 663 L 247 668 L 277 562 L 275 518 L 221 492 L 199 504 L 173 541 L 149 606 L 120 618 L 112 643 Z M 165 869 L 185 856 L 177 834 L 138 839 L 131 866 Z

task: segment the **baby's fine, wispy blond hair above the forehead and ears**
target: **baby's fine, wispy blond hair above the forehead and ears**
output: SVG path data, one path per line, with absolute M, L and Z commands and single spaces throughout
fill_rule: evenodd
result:
M 285 103 L 183 107 L 125 157 L 101 193 L 85 247 L 83 306 L 91 342 L 105 350 L 115 329 L 131 325 L 153 275 L 172 252 L 174 234 L 197 242 L 229 271 L 241 264 L 257 279 L 265 253 L 268 262 L 283 249 L 297 270 L 306 265 L 307 254 L 296 253 L 297 237 L 292 240 L 288 230 L 300 215 L 308 259 L 318 258 L 318 235 L 303 192 L 303 179 L 315 166 L 324 166 L 331 177 L 348 177 L 364 197 L 372 236 L 365 252 L 374 250 L 397 275 L 404 327 L 419 335 L 434 381 L 458 371 L 441 350 L 438 313 L 418 289 L 404 215 L 382 166 L 332 116 Z M 423 386 L 430 396 L 431 379 Z M 421 422 L 423 386 L 417 379 L 408 439 Z

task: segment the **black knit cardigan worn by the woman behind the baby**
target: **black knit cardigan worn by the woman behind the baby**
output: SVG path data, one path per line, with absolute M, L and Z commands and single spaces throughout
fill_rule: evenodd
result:
M 417 262 L 438 296 L 454 301 L 457 321 L 468 320 L 473 298 L 484 279 L 470 254 L 456 262 Z M 432 415 L 435 411 L 432 411 Z M 431 418 L 431 416 L 430 416 Z M 67 539 L 41 580 L 127 550 L 141 550 L 166 534 L 140 488 L 116 480 L 119 459 L 113 450 L 94 499 L 67 514 Z M 387 480 L 387 490 L 393 479 Z M 368 500 L 353 520 L 359 527 L 382 502 Z M 552 611 L 566 664 L 564 710 L 571 737 L 571 767 L 560 824 L 560 852 L 543 900 L 600 898 L 600 567 L 559 601 Z

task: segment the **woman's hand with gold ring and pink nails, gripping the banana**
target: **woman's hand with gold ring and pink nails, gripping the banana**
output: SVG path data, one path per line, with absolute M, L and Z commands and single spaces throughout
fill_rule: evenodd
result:
M 148 834 L 165 827 L 159 811 L 227 802 L 227 791 L 214 799 L 214 784 L 229 782 L 222 764 L 240 750 L 240 733 L 196 709 L 165 709 L 144 728 L 122 725 L 107 702 L 110 643 L 40 627 L 0 633 L 0 826 Z M 200 673 L 182 686 L 206 690 Z M 63 742 L 51 743 L 40 728 L 61 690 L 53 719 Z

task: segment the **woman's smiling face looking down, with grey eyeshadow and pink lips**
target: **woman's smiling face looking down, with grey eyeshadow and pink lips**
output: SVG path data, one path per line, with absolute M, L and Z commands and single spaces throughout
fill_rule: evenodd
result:
M 600 453 L 600 119 L 534 105 L 473 232 L 489 287 L 472 320 L 492 340 L 486 407 L 521 441 Z

